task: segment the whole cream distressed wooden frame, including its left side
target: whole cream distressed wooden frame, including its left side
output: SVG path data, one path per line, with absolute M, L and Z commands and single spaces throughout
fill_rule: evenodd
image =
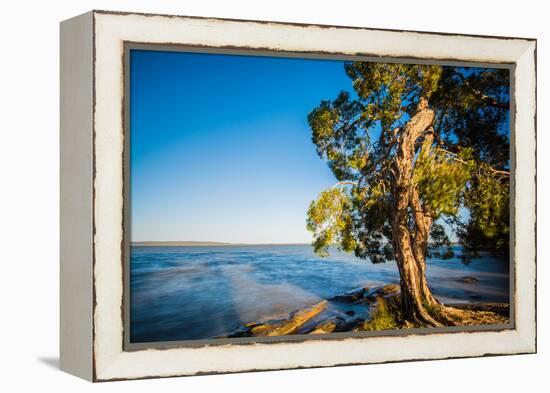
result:
M 510 324 L 304 339 L 128 341 L 131 48 L 510 70 Z M 536 40 L 91 11 L 61 23 L 61 369 L 90 381 L 536 352 Z

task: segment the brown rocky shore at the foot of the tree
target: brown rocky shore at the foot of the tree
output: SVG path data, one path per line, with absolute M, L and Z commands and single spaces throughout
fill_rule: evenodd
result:
M 467 277 L 469 283 L 475 279 Z M 227 338 L 284 336 L 404 329 L 412 326 L 400 318 L 400 289 L 397 284 L 377 288 L 357 288 L 324 299 L 290 313 L 286 318 L 250 322 L 234 330 Z M 460 303 L 446 306 L 463 311 L 461 326 L 503 324 L 508 322 L 505 303 Z

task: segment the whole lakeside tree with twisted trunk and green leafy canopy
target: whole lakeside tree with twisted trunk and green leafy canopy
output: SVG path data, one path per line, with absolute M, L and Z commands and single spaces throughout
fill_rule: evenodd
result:
M 470 250 L 508 248 L 508 71 L 369 62 L 345 71 L 353 93 L 308 116 L 337 179 L 308 210 L 314 249 L 395 260 L 403 317 L 455 325 L 460 312 L 432 295 L 426 260 L 450 245 L 449 229 Z

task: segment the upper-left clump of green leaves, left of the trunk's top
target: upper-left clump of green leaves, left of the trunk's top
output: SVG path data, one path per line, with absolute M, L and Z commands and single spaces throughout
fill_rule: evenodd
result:
M 379 168 L 386 149 L 385 134 L 403 126 L 421 96 L 430 97 L 442 73 L 440 66 L 355 62 L 345 65 L 356 97 L 340 92 L 334 101 L 322 101 L 308 115 L 312 141 L 327 159 L 338 180 L 358 179 Z M 371 135 L 382 129 L 382 140 Z

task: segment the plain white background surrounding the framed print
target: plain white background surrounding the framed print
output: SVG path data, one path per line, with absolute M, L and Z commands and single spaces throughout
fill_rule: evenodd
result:
M 103 0 L 4 2 L 0 12 L 0 390 L 4 392 L 548 391 L 550 238 L 545 2 Z M 90 9 L 538 38 L 539 354 L 92 385 L 58 367 L 59 21 Z M 521 131 L 520 131 L 521 135 Z M 518 192 L 521 192 L 519 190 Z

